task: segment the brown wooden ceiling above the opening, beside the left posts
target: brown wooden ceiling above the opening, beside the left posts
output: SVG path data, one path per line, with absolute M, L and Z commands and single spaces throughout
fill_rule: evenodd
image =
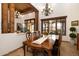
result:
M 38 11 L 31 3 L 14 3 L 15 10 L 22 14 L 26 14 L 33 11 Z

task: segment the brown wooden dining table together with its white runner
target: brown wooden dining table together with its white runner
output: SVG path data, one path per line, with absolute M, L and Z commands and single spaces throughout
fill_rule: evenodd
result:
M 47 37 L 47 38 L 46 38 Z M 46 50 L 48 53 L 48 56 L 52 55 L 52 49 L 54 40 L 49 39 L 49 36 L 46 37 L 40 37 L 37 40 L 33 40 L 32 38 L 29 40 L 26 40 L 23 42 L 23 50 L 24 50 L 24 56 L 26 55 L 26 46 L 34 49 L 40 49 L 40 50 Z M 42 41 L 43 40 L 43 41 Z M 36 43 L 38 41 L 38 43 Z M 41 41 L 41 43 L 39 42 Z

